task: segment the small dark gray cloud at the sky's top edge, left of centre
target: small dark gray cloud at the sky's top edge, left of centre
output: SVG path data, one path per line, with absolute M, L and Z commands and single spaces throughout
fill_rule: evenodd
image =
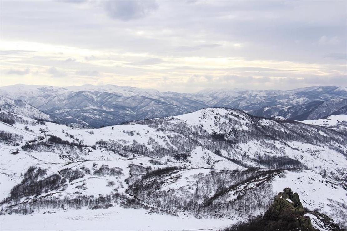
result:
M 104 8 L 113 19 L 128 21 L 131 19 L 144 18 L 152 11 L 158 9 L 156 1 L 141 0 L 117 0 L 105 1 Z

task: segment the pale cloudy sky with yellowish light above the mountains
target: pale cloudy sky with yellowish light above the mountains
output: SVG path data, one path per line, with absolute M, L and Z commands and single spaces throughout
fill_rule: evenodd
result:
M 347 1 L 0 3 L 0 86 L 346 86 Z

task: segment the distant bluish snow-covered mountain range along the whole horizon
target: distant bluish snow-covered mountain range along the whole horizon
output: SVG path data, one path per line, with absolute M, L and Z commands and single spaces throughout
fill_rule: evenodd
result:
M 345 87 L 288 91 L 206 89 L 195 94 L 180 94 L 115 85 L 64 88 L 13 85 L 1 87 L 0 95 L 25 100 L 64 123 L 85 127 L 176 116 L 207 107 L 236 108 L 256 116 L 282 116 L 288 120 L 319 119 L 347 113 Z

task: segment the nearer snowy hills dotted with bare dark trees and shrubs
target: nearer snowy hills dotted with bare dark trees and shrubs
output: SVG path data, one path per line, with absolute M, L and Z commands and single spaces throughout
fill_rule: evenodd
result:
M 347 137 L 327 127 L 225 108 L 98 129 L 1 114 L 15 121 L 0 122 L 3 224 L 101 208 L 90 219 L 139 208 L 232 224 L 290 187 L 304 207 L 346 226 Z

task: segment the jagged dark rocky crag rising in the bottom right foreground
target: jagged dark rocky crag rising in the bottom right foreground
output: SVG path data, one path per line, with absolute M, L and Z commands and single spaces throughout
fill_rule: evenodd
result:
M 311 219 L 304 216 L 305 213 L 299 195 L 293 193 L 291 188 L 285 188 L 274 198 L 264 214 L 263 220 L 267 223 L 265 230 L 314 231 Z

